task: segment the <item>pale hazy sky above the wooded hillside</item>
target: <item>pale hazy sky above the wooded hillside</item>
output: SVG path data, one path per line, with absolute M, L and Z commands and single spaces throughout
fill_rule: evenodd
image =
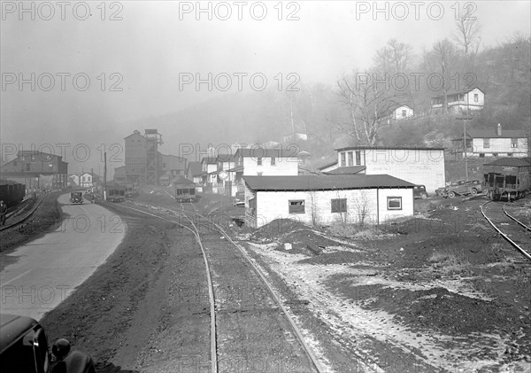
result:
M 529 1 L 2 1 L 2 157 L 87 144 L 97 165 L 131 122 L 227 93 L 334 84 L 390 38 L 421 53 L 451 37 L 465 6 L 481 48 L 531 34 Z

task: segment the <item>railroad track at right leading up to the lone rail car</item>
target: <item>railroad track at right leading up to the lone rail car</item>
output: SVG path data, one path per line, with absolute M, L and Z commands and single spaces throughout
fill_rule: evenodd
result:
M 496 206 L 494 208 L 490 208 Z M 489 224 L 504 237 L 527 261 L 515 263 L 531 263 L 531 251 L 529 243 L 531 242 L 531 228 L 519 221 L 512 214 L 509 214 L 505 208 L 507 204 L 501 205 L 496 202 L 486 202 L 480 206 L 481 214 L 489 221 Z M 486 212 L 487 211 L 487 212 Z M 489 216 L 488 216 L 489 215 Z M 521 257 L 519 257 L 521 258 Z

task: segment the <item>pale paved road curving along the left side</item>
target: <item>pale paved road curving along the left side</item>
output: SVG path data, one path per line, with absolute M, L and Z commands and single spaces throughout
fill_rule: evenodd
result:
M 125 236 L 127 227 L 118 215 L 89 203 L 70 205 L 69 198 L 58 199 L 70 215 L 61 227 L 8 254 L 14 260 L 0 272 L 2 313 L 40 320 L 89 278 Z

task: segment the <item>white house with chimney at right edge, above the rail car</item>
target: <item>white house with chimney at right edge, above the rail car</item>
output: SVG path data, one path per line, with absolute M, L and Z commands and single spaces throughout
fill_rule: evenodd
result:
M 521 129 L 466 130 L 466 155 L 469 157 L 528 157 L 528 139 Z M 454 149 L 463 150 L 463 137 L 452 139 Z

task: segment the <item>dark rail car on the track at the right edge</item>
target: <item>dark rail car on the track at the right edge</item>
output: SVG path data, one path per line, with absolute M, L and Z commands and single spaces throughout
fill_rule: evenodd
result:
M 483 177 L 491 200 L 512 201 L 531 190 L 531 165 L 523 159 L 496 159 L 483 165 Z

